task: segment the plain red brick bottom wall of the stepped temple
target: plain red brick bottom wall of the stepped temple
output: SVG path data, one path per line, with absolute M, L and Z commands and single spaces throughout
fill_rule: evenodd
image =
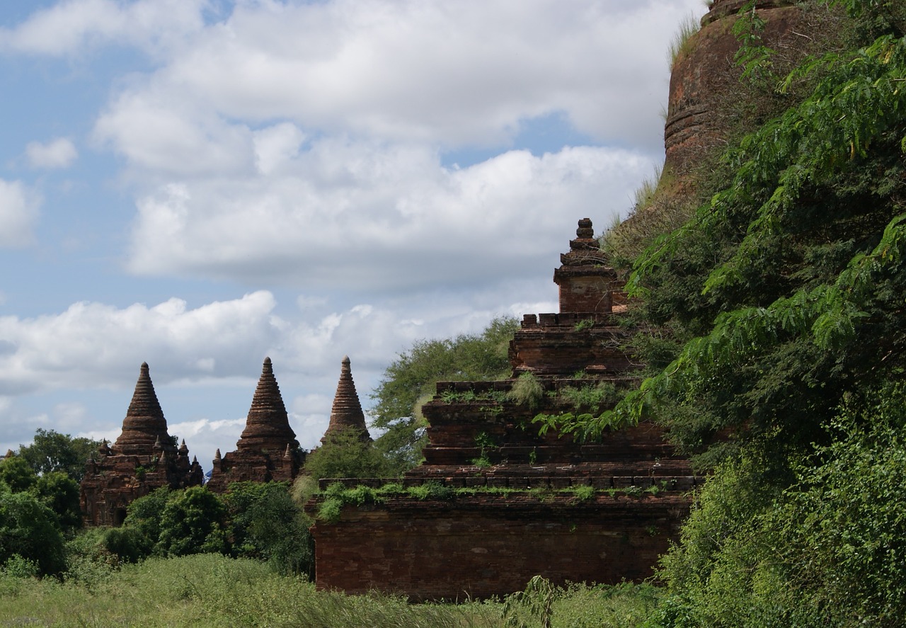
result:
M 688 499 L 676 493 L 586 501 L 408 498 L 344 507 L 339 522 L 313 527 L 315 580 L 320 589 L 413 600 L 508 594 L 539 574 L 558 584 L 639 581 L 651 575 L 688 511 Z

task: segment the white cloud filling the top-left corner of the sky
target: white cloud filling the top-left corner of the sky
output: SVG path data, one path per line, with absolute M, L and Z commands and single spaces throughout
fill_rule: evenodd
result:
M 149 52 L 174 48 L 204 25 L 207 0 L 69 0 L 0 28 L 0 52 L 65 56 L 119 43 Z

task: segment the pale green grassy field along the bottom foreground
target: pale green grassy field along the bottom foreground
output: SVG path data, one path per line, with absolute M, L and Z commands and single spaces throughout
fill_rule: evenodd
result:
M 550 615 L 557 628 L 639 626 L 656 594 L 644 585 L 571 586 L 554 591 Z M 0 626 L 527 628 L 543 625 L 532 601 L 511 598 L 505 616 L 501 601 L 408 604 L 380 594 L 315 592 L 302 578 L 218 555 L 99 567 L 63 582 L 0 575 Z

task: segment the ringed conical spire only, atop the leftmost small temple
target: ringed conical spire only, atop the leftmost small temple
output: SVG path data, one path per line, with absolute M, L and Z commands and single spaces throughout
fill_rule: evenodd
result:
M 116 454 L 149 454 L 156 443 L 162 449 L 173 447 L 167 433 L 167 420 L 151 383 L 148 362 L 142 362 L 139 381 L 122 421 L 122 433 L 111 449 Z

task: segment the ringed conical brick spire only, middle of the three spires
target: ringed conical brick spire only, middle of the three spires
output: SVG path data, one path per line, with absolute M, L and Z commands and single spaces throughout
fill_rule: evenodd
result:
M 280 387 L 274 377 L 271 359 L 265 358 L 255 397 L 252 399 L 252 407 L 246 418 L 246 429 L 236 442 L 236 449 L 270 451 L 280 455 L 288 444 L 294 449 L 299 447 L 299 442 L 295 440 L 295 432 L 289 426 L 289 417 L 286 414 L 283 397 L 280 395 Z

